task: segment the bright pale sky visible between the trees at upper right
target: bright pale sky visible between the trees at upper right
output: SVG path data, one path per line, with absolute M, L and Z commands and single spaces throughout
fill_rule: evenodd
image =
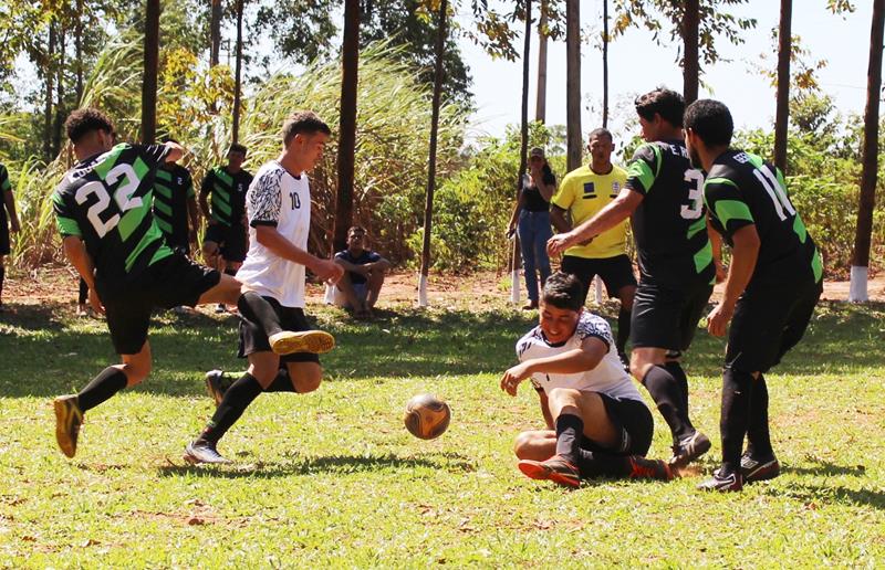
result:
M 610 0 L 610 20 L 612 8 Z M 866 71 L 870 53 L 870 25 L 872 2 L 854 2 L 856 10 L 846 17 L 833 15 L 826 0 L 794 0 L 792 31 L 810 52 L 809 63 L 826 60 L 827 65 L 818 72 L 824 93 L 832 96 L 842 114 L 863 114 L 866 103 Z M 771 30 L 778 27 L 780 2 L 750 0 L 749 6 L 730 9 L 736 15 L 756 18 L 757 27 L 742 32 L 746 43 L 731 45 L 727 39 L 717 38 L 717 51 L 722 60 L 706 67 L 700 97 L 712 97 L 729 106 L 738 128 L 773 128 L 774 87 L 760 72 L 777 66 L 777 46 Z M 458 14 L 462 25 L 470 25 L 468 14 Z M 581 24 L 584 32 L 602 30 L 602 0 L 581 0 Z M 611 25 L 611 24 L 610 24 Z M 610 128 L 615 136 L 627 135 L 633 128 L 633 99 L 658 85 L 681 91 L 681 70 L 676 63 L 678 43 L 669 40 L 657 45 L 645 30 L 631 29 L 608 48 Z M 521 49 L 522 40 L 519 40 Z M 508 124 L 520 120 L 522 62 L 492 60 L 470 41 L 461 39 L 462 56 L 473 77 L 472 91 L 477 112 L 471 117 L 472 135 L 500 136 Z M 538 35 L 531 39 L 531 70 L 529 118 L 535 113 L 535 82 L 538 70 Z M 582 45 L 581 127 L 584 134 L 602 124 L 602 51 Z M 764 59 L 763 59 L 764 56 Z M 546 124 L 565 124 L 565 43 L 548 43 Z M 591 108 L 595 107 L 595 110 Z M 633 133 L 628 133 L 633 134 Z

